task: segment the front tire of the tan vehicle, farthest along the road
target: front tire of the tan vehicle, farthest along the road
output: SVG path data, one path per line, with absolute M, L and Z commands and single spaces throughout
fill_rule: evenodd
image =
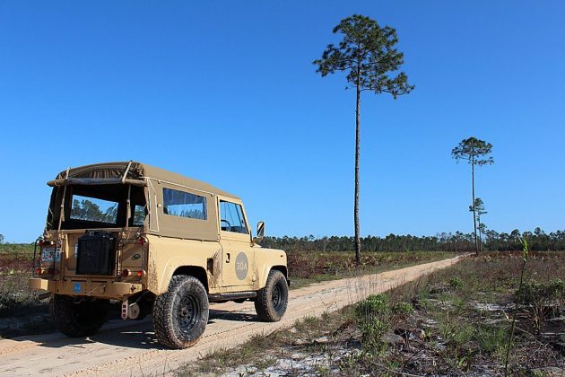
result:
M 265 288 L 257 292 L 255 310 L 259 320 L 276 322 L 282 319 L 289 301 L 289 286 L 281 271 L 272 269 Z

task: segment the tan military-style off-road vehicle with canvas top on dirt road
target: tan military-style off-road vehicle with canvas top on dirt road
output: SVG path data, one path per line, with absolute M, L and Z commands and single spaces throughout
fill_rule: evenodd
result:
M 162 345 L 194 345 L 209 302 L 255 302 L 261 320 L 286 311 L 282 250 L 265 249 L 239 197 L 140 162 L 68 169 L 53 187 L 36 242 L 30 287 L 51 293 L 49 310 L 70 337 L 95 334 L 111 303 L 124 320 L 152 313 Z

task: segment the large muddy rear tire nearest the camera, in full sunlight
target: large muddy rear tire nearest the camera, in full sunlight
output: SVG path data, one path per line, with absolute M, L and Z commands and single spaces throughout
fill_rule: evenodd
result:
M 153 326 L 159 343 L 181 349 L 194 346 L 208 322 L 208 294 L 194 276 L 170 279 L 169 291 L 153 304 Z

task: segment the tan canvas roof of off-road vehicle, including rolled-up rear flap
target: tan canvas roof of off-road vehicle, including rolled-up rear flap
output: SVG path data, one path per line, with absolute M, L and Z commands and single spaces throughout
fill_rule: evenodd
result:
M 101 162 L 91 165 L 84 165 L 72 168 L 67 171 L 61 171 L 57 174 L 55 180 L 48 181 L 51 187 L 64 186 L 66 184 L 83 184 L 83 185 L 104 185 L 112 183 L 126 183 L 137 186 L 145 186 L 146 180 L 160 180 L 189 189 L 196 189 L 210 194 L 222 195 L 238 199 L 239 197 L 217 189 L 212 185 L 201 180 L 193 180 L 184 175 L 156 168 L 143 162 Z

